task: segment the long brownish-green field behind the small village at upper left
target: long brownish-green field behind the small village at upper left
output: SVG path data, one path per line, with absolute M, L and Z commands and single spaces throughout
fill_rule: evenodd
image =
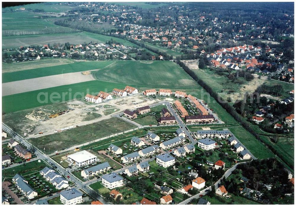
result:
M 63 27 L 64 28 L 64 27 Z M 20 35 L 20 36 L 4 36 L 2 37 L 2 48 L 19 48 L 20 46 L 44 45 L 54 43 L 80 44 L 83 42 L 101 42 L 110 41 L 138 48 L 137 45 L 120 38 L 110 37 L 106 35 L 94 34 L 89 32 L 74 32 L 61 34 L 41 34 L 41 35 Z

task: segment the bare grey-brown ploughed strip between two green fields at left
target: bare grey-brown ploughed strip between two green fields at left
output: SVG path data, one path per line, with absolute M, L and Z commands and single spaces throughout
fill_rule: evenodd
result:
M 67 84 L 75 84 L 91 80 L 95 80 L 92 75 L 83 75 L 81 72 L 73 72 L 38 77 L 34 79 L 12 81 L 2 84 L 2 97 L 11 94 L 18 94 L 27 91 L 34 91 L 55 86 L 63 86 Z

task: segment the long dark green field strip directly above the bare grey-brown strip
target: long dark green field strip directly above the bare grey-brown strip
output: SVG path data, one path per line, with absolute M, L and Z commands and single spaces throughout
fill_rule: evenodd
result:
M 23 79 L 33 79 L 43 76 L 51 76 L 63 73 L 72 73 L 79 71 L 87 71 L 92 69 L 101 69 L 117 61 L 83 61 L 64 65 L 42 67 L 23 71 L 15 71 L 2 74 L 2 83 L 19 81 Z M 17 64 L 17 63 L 16 63 Z

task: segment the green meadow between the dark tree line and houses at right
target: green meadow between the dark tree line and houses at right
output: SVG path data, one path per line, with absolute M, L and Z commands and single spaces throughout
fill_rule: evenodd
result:
M 263 143 L 259 142 L 253 135 L 243 127 L 230 127 L 229 130 L 247 147 L 247 149 L 258 159 L 271 158 L 270 153 Z

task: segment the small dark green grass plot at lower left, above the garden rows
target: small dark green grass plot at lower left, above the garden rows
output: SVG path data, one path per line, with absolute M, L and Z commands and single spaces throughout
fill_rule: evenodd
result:
M 2 179 L 4 177 L 10 179 L 16 174 L 25 176 L 28 174 L 36 173 L 41 169 L 43 169 L 45 166 L 47 165 L 45 164 L 44 161 L 38 162 L 38 160 L 36 160 L 36 161 L 28 162 L 19 166 L 12 167 L 9 169 L 4 169 L 2 170 Z

